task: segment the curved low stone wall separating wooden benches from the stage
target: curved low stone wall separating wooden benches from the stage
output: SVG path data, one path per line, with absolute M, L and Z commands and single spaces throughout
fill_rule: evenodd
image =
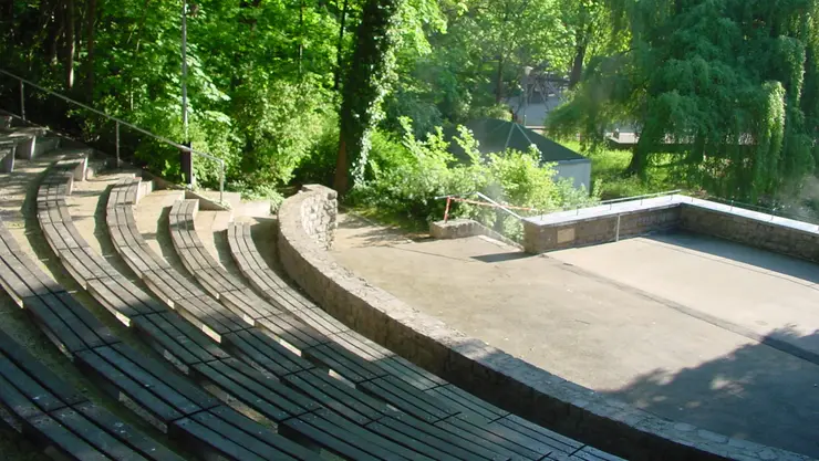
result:
M 631 460 L 810 459 L 660 418 L 447 327 L 335 262 L 326 251 L 335 213 L 335 191 L 322 186 L 308 186 L 284 200 L 278 238 L 284 270 L 336 318 L 454 385 Z

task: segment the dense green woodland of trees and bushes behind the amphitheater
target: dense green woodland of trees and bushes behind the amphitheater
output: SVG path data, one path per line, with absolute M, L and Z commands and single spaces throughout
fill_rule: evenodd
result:
M 2 67 L 184 142 L 182 13 L 182 0 L 6 0 Z M 476 190 L 540 210 L 676 187 L 817 209 L 819 0 L 194 0 L 185 13 L 189 140 L 246 196 L 319 181 L 413 221 Z M 525 66 L 566 78 L 543 123 L 592 158 L 592 193 L 554 182 L 537 153 L 481 157 L 466 132 L 471 161 L 446 151 L 442 127 L 509 118 Z M 17 83 L 0 85 L 15 109 Z M 111 150 L 111 123 L 27 101 L 31 119 Z M 622 127 L 639 143 L 609 150 Z M 178 178 L 174 149 L 123 140 Z M 197 161 L 197 176 L 212 187 L 217 170 Z

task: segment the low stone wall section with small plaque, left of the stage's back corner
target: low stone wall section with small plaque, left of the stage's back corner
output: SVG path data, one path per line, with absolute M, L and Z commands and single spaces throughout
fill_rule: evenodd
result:
M 613 242 L 618 239 L 674 229 L 680 222 L 677 203 L 624 213 L 567 219 L 556 223 L 523 221 L 523 248 L 533 254 L 567 248 Z

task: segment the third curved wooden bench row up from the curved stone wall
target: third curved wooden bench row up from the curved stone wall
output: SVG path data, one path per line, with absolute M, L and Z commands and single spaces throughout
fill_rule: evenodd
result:
M 207 293 L 190 285 L 182 274 L 154 254 L 134 221 L 132 207 L 138 184 L 138 179 L 124 179 L 108 196 L 106 220 L 116 251 L 157 296 L 183 313 L 199 331 L 209 332 L 212 340 L 218 339 L 230 353 L 252 364 L 268 378 L 276 376 L 284 385 L 303 392 L 301 400 L 310 412 L 277 416 L 260 405 L 277 404 L 276 400 L 272 402 L 266 400 L 265 392 L 257 392 L 255 399 L 242 398 L 250 394 L 237 391 L 237 386 L 243 383 L 227 383 L 224 379 L 218 383 L 220 388 L 228 394 L 238 395 L 243 404 L 279 423 L 280 430 L 284 428 L 300 433 L 338 454 L 353 459 L 434 459 L 440 454 L 431 449 L 427 452 L 432 458 L 425 458 L 375 433 L 362 430 L 361 425 L 373 422 L 380 411 L 387 410 L 384 405 L 366 396 L 356 396 L 348 386 L 317 369 L 311 363 L 271 340 L 269 336 L 252 331 L 252 327 L 241 319 L 229 318 L 232 315 L 229 311 L 216 303 Z M 236 329 L 222 329 L 227 321 L 238 325 Z M 138 324 L 139 317 L 134 322 Z M 166 350 L 166 355 L 178 357 L 176 362 L 179 363 L 190 360 L 188 354 L 179 354 L 176 350 L 169 353 Z

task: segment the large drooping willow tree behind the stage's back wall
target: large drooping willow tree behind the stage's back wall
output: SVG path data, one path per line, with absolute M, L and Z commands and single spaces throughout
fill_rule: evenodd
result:
M 819 1 L 611 1 L 630 48 L 590 63 L 552 129 L 602 143 L 634 124 L 630 171 L 674 144 L 686 177 L 744 199 L 813 170 Z

